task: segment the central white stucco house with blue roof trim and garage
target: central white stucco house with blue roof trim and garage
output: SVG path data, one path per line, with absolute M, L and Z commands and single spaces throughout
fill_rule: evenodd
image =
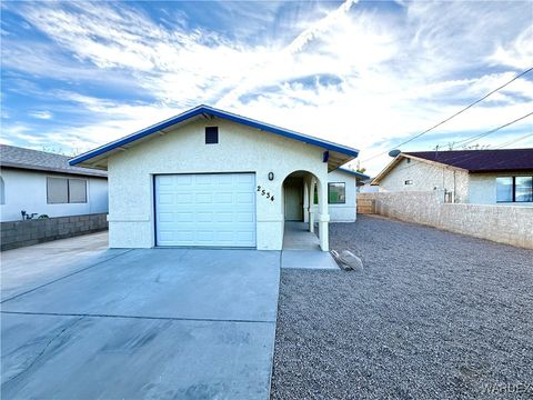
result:
M 340 211 L 342 219 L 355 209 L 351 176 L 339 172 L 332 180 L 330 172 L 358 153 L 200 106 L 70 163 L 108 170 L 112 248 L 281 250 L 285 220 L 301 220 L 310 230 L 318 222 L 320 246 L 328 251 L 330 212 L 336 214 L 329 198 L 353 202 Z M 318 207 L 304 207 L 315 186 Z

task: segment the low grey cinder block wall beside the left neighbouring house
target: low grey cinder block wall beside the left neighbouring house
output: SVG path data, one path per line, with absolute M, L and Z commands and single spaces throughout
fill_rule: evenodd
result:
M 1 222 L 1 251 L 108 229 L 105 213 Z

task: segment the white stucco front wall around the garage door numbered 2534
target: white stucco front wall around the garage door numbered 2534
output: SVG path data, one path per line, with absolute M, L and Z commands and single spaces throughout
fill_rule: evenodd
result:
M 219 127 L 219 143 L 205 144 L 204 128 Z M 153 174 L 255 172 L 274 201 L 257 196 L 258 249 L 280 250 L 283 240 L 282 182 L 296 170 L 328 181 L 323 150 L 227 120 L 194 121 L 115 153 L 108 161 L 109 230 L 112 248 L 154 246 Z M 274 180 L 269 181 L 269 172 Z

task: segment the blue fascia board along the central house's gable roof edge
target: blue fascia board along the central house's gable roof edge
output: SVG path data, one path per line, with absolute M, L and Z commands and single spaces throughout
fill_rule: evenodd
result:
M 199 106 L 199 107 L 195 107 L 195 108 L 193 108 L 189 111 L 185 111 L 185 112 L 183 112 L 179 116 L 172 117 L 168 120 L 164 120 L 162 122 L 159 122 L 157 124 L 153 124 L 151 127 L 142 129 L 138 132 L 134 132 L 130 136 L 127 136 L 122 139 L 115 140 L 111 143 L 104 144 L 104 146 L 99 147 L 94 150 L 91 150 L 91 151 L 88 151 L 83 154 L 74 157 L 73 159 L 71 159 L 69 161 L 69 164 L 70 166 L 76 166 L 76 164 L 78 164 L 80 162 L 83 162 L 83 161 L 87 161 L 87 160 L 89 160 L 93 157 L 103 154 L 103 153 L 105 153 L 108 151 L 111 151 L 113 149 L 117 149 L 121 146 L 131 143 L 135 140 L 142 139 L 142 138 L 144 138 L 147 136 L 150 136 L 152 133 L 155 133 L 155 132 L 158 132 L 162 129 L 169 128 L 173 124 L 180 123 L 182 121 L 185 121 L 190 118 L 193 118 L 193 117 L 202 114 L 202 113 L 209 113 L 211 116 L 223 118 L 223 119 L 227 119 L 229 121 L 238 122 L 238 123 L 241 123 L 241 124 L 244 124 L 244 126 L 248 126 L 248 127 L 251 127 L 251 128 L 257 128 L 257 129 L 260 129 L 260 130 L 263 130 L 263 131 L 266 131 L 266 132 L 280 134 L 280 136 L 285 137 L 285 138 L 303 141 L 305 143 L 314 144 L 314 146 L 318 146 L 318 147 L 321 147 L 321 148 L 324 148 L 324 149 L 328 149 L 328 150 L 336 151 L 336 152 L 340 152 L 340 153 L 343 153 L 343 154 L 346 154 L 346 156 L 358 157 L 358 154 L 359 154 L 359 150 L 356 150 L 356 149 L 352 149 L 352 148 L 349 148 L 349 147 L 335 144 L 335 143 L 332 143 L 332 142 L 329 142 L 329 141 L 324 141 L 324 140 L 321 140 L 321 139 L 309 137 L 306 134 L 302 134 L 302 133 L 298 133 L 298 132 L 294 132 L 294 131 L 291 131 L 291 130 L 278 128 L 278 127 L 274 127 L 274 126 L 270 126 L 268 123 L 259 122 L 259 121 L 251 120 L 251 119 L 248 119 L 248 118 L 244 118 L 244 117 L 240 117 L 240 116 L 237 116 L 237 114 L 233 114 L 233 113 L 230 113 L 230 112 L 213 109 L 213 108 L 208 107 L 208 106 Z

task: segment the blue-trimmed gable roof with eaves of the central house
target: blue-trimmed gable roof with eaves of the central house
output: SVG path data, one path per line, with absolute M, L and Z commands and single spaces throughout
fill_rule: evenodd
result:
M 259 129 L 260 131 L 279 134 L 284 138 L 299 140 L 304 143 L 313 144 L 313 146 L 323 148 L 324 150 L 329 150 L 332 152 L 330 153 L 330 157 L 329 157 L 329 159 L 331 160 L 329 161 L 329 167 L 331 168 L 331 170 L 338 168 L 339 166 L 342 166 L 343 163 L 346 163 L 348 161 L 354 159 L 359 154 L 359 150 L 346 147 L 346 146 L 338 144 L 328 140 L 314 138 L 308 134 L 299 133 L 289 129 L 275 127 L 265 122 L 260 122 L 247 117 L 241 117 L 228 111 L 222 111 L 222 110 L 202 104 L 189 111 L 185 111 L 181 114 L 172 117 L 168 120 L 161 121 L 151 127 L 137 131 L 132 134 L 129 134 L 127 137 L 112 141 L 108 144 L 101 146 L 94 150 L 91 150 L 83 154 L 74 157 L 73 159 L 70 160 L 70 164 L 71 166 L 83 164 L 89 168 L 103 169 L 105 167 L 102 163 L 99 163 L 98 161 L 102 159 L 107 159 L 107 157 L 114 151 L 119 151 L 120 149 L 123 150 L 124 148 L 133 146 L 133 143 L 142 139 L 147 139 L 153 133 L 168 132 L 171 129 L 174 129 L 175 126 L 182 122 L 185 122 L 195 118 L 210 119 L 213 117 L 222 118 L 229 121 L 248 126 L 250 128 Z M 165 131 L 167 129 L 168 131 Z

